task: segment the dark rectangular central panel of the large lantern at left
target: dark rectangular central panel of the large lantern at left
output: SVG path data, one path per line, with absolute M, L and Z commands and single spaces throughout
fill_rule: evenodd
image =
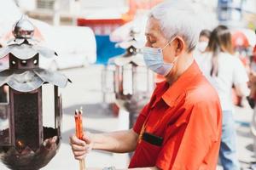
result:
M 40 128 L 41 117 L 38 115 L 38 93 L 15 94 L 15 144 L 27 145 L 37 150 L 42 143 Z M 29 101 L 29 102 L 23 102 Z

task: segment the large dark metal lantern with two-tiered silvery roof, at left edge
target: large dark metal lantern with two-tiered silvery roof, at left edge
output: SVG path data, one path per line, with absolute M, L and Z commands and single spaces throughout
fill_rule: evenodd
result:
M 9 86 L 9 103 L 0 104 L 0 159 L 11 169 L 37 170 L 54 156 L 61 142 L 61 96 L 58 87 L 69 79 L 39 68 L 41 57 L 55 51 L 33 39 L 32 23 L 22 17 L 13 30 L 14 40 L 0 48 L 0 59 L 9 57 L 9 69 L 0 72 L 0 86 Z M 43 126 L 42 86 L 54 85 L 55 127 Z

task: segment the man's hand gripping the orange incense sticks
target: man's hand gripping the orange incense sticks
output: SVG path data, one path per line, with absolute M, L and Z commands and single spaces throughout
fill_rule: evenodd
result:
M 82 140 L 78 139 L 74 134 L 70 136 L 70 145 L 75 159 L 82 160 L 92 150 L 94 142 L 90 136 L 90 133 L 86 133 Z

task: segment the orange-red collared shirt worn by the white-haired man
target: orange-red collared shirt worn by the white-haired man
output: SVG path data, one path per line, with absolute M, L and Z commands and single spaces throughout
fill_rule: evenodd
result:
M 133 127 L 141 135 L 129 167 L 215 170 L 221 124 L 218 94 L 194 62 L 172 86 L 155 88 Z M 145 132 L 162 144 L 141 139 Z

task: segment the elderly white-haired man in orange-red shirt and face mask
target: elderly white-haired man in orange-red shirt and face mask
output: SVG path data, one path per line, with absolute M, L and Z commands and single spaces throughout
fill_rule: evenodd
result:
M 166 81 L 157 85 L 131 130 L 70 137 L 76 159 L 91 149 L 135 151 L 129 169 L 216 169 L 222 115 L 218 94 L 193 59 L 199 37 L 195 21 L 183 0 L 151 10 L 143 56 Z

